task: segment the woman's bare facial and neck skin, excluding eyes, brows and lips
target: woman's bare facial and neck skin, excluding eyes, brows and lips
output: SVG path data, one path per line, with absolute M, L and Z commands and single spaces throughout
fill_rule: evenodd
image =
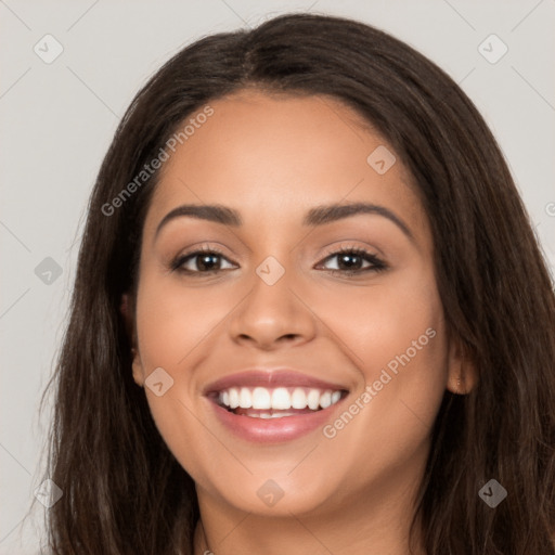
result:
M 392 147 L 339 101 L 244 90 L 210 105 L 214 115 L 164 165 L 133 299 L 134 380 L 144 386 L 157 367 L 173 379 L 163 396 L 144 389 L 196 483 L 195 554 L 405 555 L 444 390 L 463 393 L 475 383 L 446 328 L 434 242 L 411 176 L 399 157 L 382 176 L 366 163 L 378 145 Z M 388 208 L 412 238 L 379 215 L 301 224 L 317 205 L 350 202 Z M 183 204 L 225 205 L 243 224 L 181 217 L 155 236 Z M 219 273 L 202 274 L 198 257 L 186 262 L 196 274 L 170 269 L 203 245 L 223 251 Z M 334 274 L 339 257 L 331 255 L 340 246 L 364 248 L 387 268 Z M 256 273 L 268 256 L 285 270 L 271 286 Z M 202 395 L 242 369 L 294 366 L 345 384 L 337 418 L 428 328 L 435 337 L 331 439 L 320 428 L 280 444 L 240 439 Z M 268 479 L 284 492 L 273 506 L 257 495 Z

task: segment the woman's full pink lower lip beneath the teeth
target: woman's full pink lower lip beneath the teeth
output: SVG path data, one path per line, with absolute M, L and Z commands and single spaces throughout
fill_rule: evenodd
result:
M 247 441 L 259 443 L 279 443 L 300 438 L 317 428 L 322 428 L 332 420 L 335 409 L 343 403 L 340 399 L 327 409 L 295 416 L 282 416 L 281 418 L 256 418 L 234 414 L 214 401 L 212 405 L 218 420 L 235 436 Z

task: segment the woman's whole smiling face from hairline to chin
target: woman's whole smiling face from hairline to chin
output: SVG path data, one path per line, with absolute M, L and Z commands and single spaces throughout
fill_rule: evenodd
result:
M 202 507 L 405 499 L 460 371 L 411 177 L 328 98 L 210 106 L 143 230 L 133 375 L 156 425 Z

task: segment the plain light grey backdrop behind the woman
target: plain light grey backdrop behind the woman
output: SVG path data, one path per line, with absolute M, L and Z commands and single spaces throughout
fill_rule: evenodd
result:
M 35 503 L 23 520 L 41 482 L 50 418 L 48 410 L 39 417 L 38 402 L 63 336 L 88 195 L 119 117 L 184 44 L 306 10 L 380 27 L 461 83 L 555 266 L 555 0 L 0 0 L 1 554 L 40 548 L 46 508 Z M 51 64 L 34 51 L 53 52 L 47 34 L 64 49 Z M 491 34 L 508 47 L 494 64 L 478 50 Z M 500 52 L 491 41 L 482 48 Z M 47 257 L 63 270 L 57 279 L 40 271 Z

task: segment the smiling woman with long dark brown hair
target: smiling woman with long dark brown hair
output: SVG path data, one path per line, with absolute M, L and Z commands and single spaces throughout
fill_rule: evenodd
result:
M 555 553 L 555 298 L 494 138 L 308 14 L 139 92 L 56 373 L 53 553 Z

